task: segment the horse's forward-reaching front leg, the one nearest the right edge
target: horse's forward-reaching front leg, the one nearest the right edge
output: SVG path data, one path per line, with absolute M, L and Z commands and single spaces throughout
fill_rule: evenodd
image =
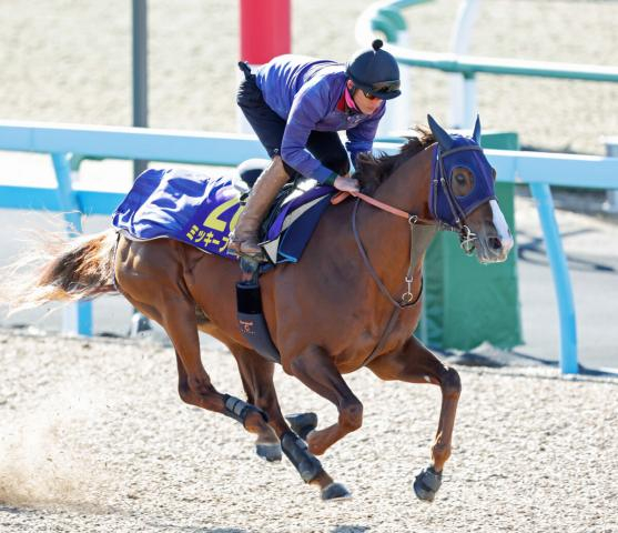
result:
M 432 446 L 432 465 L 423 470 L 414 483 L 421 500 L 433 501 L 442 483 L 444 463 L 450 456 L 455 414 L 462 392 L 459 374 L 442 363 L 414 336 L 401 350 L 377 358 L 368 368 L 383 380 L 433 383 L 442 389 L 442 409 Z

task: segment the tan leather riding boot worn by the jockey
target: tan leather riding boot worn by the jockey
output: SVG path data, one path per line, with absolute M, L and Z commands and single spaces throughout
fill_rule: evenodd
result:
M 288 178 L 281 157 L 275 155 L 252 187 L 246 205 L 230 235 L 230 249 L 233 252 L 252 258 L 262 255 L 257 240 L 260 224 Z

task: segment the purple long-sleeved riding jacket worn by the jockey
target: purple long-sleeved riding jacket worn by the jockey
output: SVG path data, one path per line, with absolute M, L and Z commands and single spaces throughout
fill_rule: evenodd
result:
M 303 175 L 321 183 L 333 178 L 306 149 L 310 133 L 346 130 L 345 148 L 352 162 L 372 150 L 385 104 L 373 114 L 337 105 L 344 94 L 345 66 L 305 56 L 278 56 L 255 72 L 255 82 L 265 102 L 286 121 L 281 157 Z M 342 109 L 343 108 L 343 109 Z

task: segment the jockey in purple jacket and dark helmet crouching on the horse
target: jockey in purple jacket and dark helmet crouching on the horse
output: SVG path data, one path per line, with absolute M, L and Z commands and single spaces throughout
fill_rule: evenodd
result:
M 260 223 L 281 188 L 297 174 L 340 191 L 358 190 L 347 153 L 355 161 L 372 150 L 385 100 L 401 94 L 397 62 L 382 46 L 376 39 L 346 66 L 286 54 L 253 74 L 247 63 L 239 63 L 245 79 L 237 103 L 272 161 L 251 190 L 231 235 L 232 251 L 262 255 Z M 341 130 L 347 130 L 345 148 Z

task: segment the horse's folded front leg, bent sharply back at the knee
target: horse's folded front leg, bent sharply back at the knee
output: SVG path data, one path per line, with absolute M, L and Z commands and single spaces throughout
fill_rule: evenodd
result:
M 312 453 L 323 454 L 340 439 L 361 428 L 363 404 L 349 390 L 325 350 L 320 346 L 307 348 L 291 361 L 290 369 L 312 391 L 334 403 L 340 413 L 337 423 L 307 434 L 306 441 Z

